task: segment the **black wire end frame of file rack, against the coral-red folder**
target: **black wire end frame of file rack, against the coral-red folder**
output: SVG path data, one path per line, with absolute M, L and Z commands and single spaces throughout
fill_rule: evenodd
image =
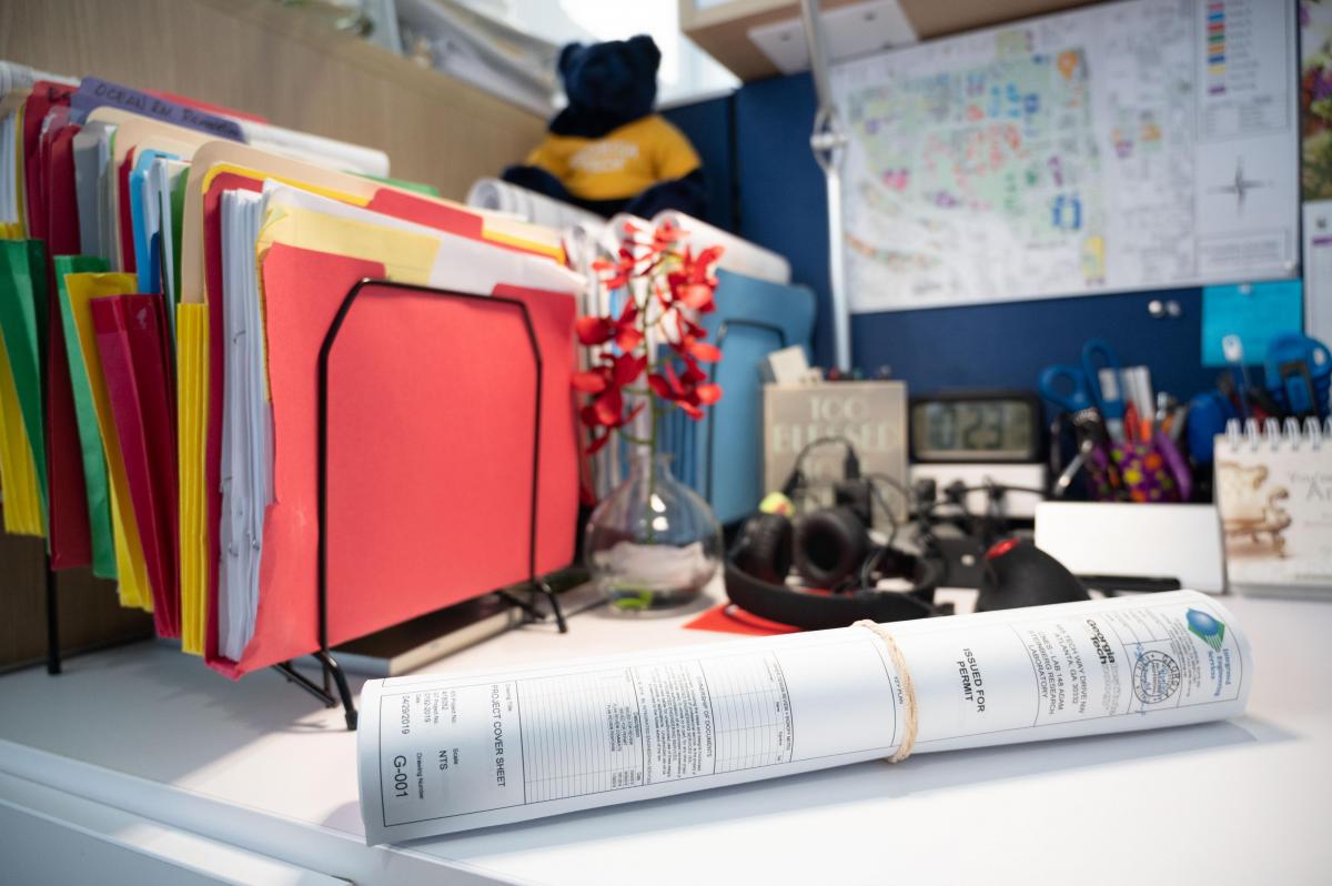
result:
M 352 289 L 348 290 L 346 297 L 338 306 L 337 314 L 333 317 L 333 322 L 329 325 L 328 333 L 324 336 L 324 344 L 320 346 L 320 365 L 318 365 L 318 641 L 320 648 L 314 653 L 314 658 L 318 660 L 324 679 L 322 683 L 316 683 L 305 674 L 296 670 L 293 662 L 285 661 L 274 667 L 288 678 L 288 681 L 294 682 L 297 686 L 310 693 L 316 698 L 324 702 L 326 707 L 336 707 L 340 702 L 346 714 L 346 727 L 356 729 L 357 711 L 356 702 L 352 698 L 352 690 L 348 686 L 346 674 L 338 666 L 337 661 L 329 652 L 329 638 L 328 638 L 328 484 L 329 484 L 329 470 L 328 470 L 328 444 L 329 444 L 329 356 L 333 350 L 333 344 L 337 341 L 338 332 L 342 329 L 342 324 L 346 320 L 348 312 L 352 305 L 356 304 L 357 298 L 361 297 L 366 286 L 374 286 L 377 292 L 396 292 L 402 294 L 422 296 L 428 294 L 434 298 L 458 298 L 458 300 L 476 300 L 485 301 L 489 305 L 509 305 L 515 309 L 522 317 L 523 326 L 527 332 L 527 342 L 531 346 L 531 356 L 535 361 L 535 414 L 533 416 L 533 430 L 531 430 L 531 494 L 527 501 L 527 585 L 529 585 L 529 598 L 523 600 L 521 596 L 511 593 L 507 589 L 496 590 L 494 593 L 503 597 L 511 605 L 519 608 L 527 617 L 529 621 L 545 621 L 547 618 L 546 613 L 541 612 L 535 606 L 537 596 L 543 596 L 549 605 L 550 613 L 559 628 L 559 633 L 567 633 L 569 625 L 565 622 L 563 612 L 559 608 L 559 600 L 554 590 L 546 582 L 542 576 L 537 574 L 537 498 L 538 498 L 538 481 L 541 470 L 541 386 L 542 386 L 542 361 L 541 349 L 537 346 L 537 333 L 531 325 L 531 317 L 527 313 L 527 306 L 517 298 L 506 298 L 502 296 L 481 296 L 476 293 L 454 292 L 449 289 L 433 289 L 426 286 L 416 286 L 409 284 L 393 282 L 390 280 L 372 280 L 365 278 L 357 282 Z M 333 689 L 337 689 L 337 697 L 333 695 Z

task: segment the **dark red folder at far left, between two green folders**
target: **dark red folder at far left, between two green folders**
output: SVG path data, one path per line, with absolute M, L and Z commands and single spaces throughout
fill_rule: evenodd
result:
M 77 256 L 79 204 L 75 195 L 73 137 L 79 127 L 68 123 L 68 108 L 48 115 L 37 149 L 39 191 L 45 197 L 48 261 L 56 256 Z M 51 568 L 72 569 L 92 562 L 92 532 L 88 518 L 88 489 L 84 478 L 79 429 L 75 420 L 69 360 L 60 318 L 60 296 L 55 278 L 47 285 L 47 489 L 51 522 Z

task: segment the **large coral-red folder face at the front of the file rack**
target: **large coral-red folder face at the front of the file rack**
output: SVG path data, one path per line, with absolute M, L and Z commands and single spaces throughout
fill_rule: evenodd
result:
M 232 675 L 318 646 L 320 346 L 348 292 L 382 265 L 277 244 L 261 266 L 273 405 L 273 504 L 260 605 Z M 549 572 L 573 556 L 577 436 L 570 396 L 574 300 L 497 285 L 497 300 L 368 286 L 329 365 L 329 642 Z M 537 534 L 529 546 L 534 433 Z

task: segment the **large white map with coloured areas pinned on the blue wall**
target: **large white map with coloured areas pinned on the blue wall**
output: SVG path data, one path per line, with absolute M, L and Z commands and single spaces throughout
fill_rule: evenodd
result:
M 851 309 L 1295 276 L 1295 28 L 1124 0 L 835 65 Z

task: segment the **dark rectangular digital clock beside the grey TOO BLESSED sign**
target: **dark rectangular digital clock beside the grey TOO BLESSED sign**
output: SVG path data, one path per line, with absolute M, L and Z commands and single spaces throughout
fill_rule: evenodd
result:
M 911 398 L 912 461 L 1043 461 L 1040 398 L 979 390 Z

